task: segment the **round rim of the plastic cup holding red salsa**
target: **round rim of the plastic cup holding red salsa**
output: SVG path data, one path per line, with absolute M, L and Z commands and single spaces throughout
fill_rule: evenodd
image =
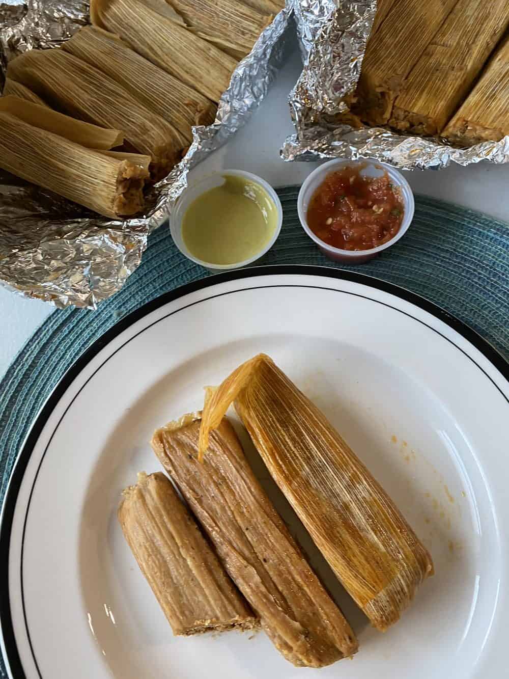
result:
M 314 234 L 307 225 L 307 216 L 304 214 L 303 205 L 305 192 L 307 191 L 309 184 L 311 184 L 312 181 L 314 181 L 316 176 L 324 172 L 324 168 L 330 168 L 332 171 L 333 167 L 337 166 L 357 165 L 365 163 L 371 164 L 375 167 L 383 168 L 383 170 L 385 170 L 388 173 L 391 179 L 394 179 L 396 183 L 398 183 L 398 186 L 402 187 L 403 189 L 406 189 L 406 195 L 402 196 L 404 200 L 404 219 L 401 223 L 398 233 L 395 234 L 391 238 L 391 240 L 388 240 L 388 242 L 378 245 L 375 248 L 370 248 L 368 250 L 343 250 L 341 248 L 335 248 L 334 246 L 329 245 L 328 243 L 318 238 L 318 236 L 316 236 L 316 234 Z M 324 172 L 324 179 L 328 174 L 329 172 Z M 301 222 L 301 226 L 303 227 L 303 230 L 306 232 L 309 238 L 314 240 L 314 242 L 316 242 L 316 244 L 320 246 L 320 248 L 330 253 L 344 255 L 345 257 L 352 257 L 352 259 L 355 259 L 355 257 L 364 257 L 364 255 L 376 255 L 377 253 L 394 245 L 394 243 L 400 240 L 400 238 L 402 238 L 402 236 L 404 236 L 404 234 L 406 234 L 407 231 L 409 230 L 409 227 L 413 219 L 414 211 L 415 211 L 415 200 L 413 197 L 413 191 L 407 179 L 405 179 L 401 172 L 398 172 L 398 170 L 396 170 L 396 168 L 394 168 L 393 166 L 371 158 L 358 158 L 355 160 L 349 158 L 333 158 L 333 160 L 328 160 L 328 162 L 322 163 L 320 166 L 318 166 L 318 168 L 315 168 L 303 181 L 303 184 L 301 185 L 301 188 L 299 190 L 299 196 L 297 197 L 297 213 L 299 215 L 299 221 Z

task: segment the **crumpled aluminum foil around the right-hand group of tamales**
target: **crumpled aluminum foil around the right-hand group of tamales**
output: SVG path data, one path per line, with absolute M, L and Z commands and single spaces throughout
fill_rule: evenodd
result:
M 425 1 L 425 0 L 423 0 Z M 376 158 L 397 168 L 426 170 L 489 160 L 509 162 L 509 136 L 469 149 L 455 149 L 433 139 L 397 134 L 385 128 L 356 130 L 335 124 L 347 109 L 362 66 L 376 0 L 290 0 L 305 61 L 290 94 L 296 134 L 286 139 L 283 160 Z

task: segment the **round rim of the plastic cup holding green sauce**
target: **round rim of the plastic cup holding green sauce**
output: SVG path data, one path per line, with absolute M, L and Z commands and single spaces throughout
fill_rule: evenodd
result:
M 258 184 L 261 186 L 267 196 L 271 198 L 272 202 L 274 202 L 274 206 L 276 207 L 276 210 L 278 212 L 278 222 L 276 224 L 276 229 L 274 230 L 274 234 L 267 243 L 267 245 L 261 249 L 256 255 L 253 255 L 253 257 L 249 257 L 248 259 L 244 259 L 240 262 L 234 262 L 233 264 L 214 264 L 212 262 L 207 262 L 204 261 L 203 259 L 198 259 L 197 257 L 194 257 L 194 255 L 191 255 L 191 253 L 187 249 L 183 249 L 180 244 L 176 241 L 174 238 L 174 232 L 178 230 L 179 232 L 182 233 L 182 219 L 177 219 L 176 213 L 177 213 L 177 206 L 178 202 L 180 202 L 185 196 L 186 191 L 188 190 L 195 190 L 199 189 L 200 185 L 207 183 L 210 181 L 212 177 L 225 177 L 225 175 L 230 175 L 231 177 L 246 177 L 246 179 L 250 179 L 253 183 Z M 199 191 L 195 198 L 198 198 L 204 191 Z M 191 186 L 187 186 L 182 194 L 178 196 L 178 199 L 176 200 L 175 207 L 170 213 L 170 234 L 172 235 L 173 242 L 176 245 L 177 249 L 185 256 L 187 259 L 190 259 L 191 261 L 195 262 L 196 264 L 200 264 L 200 266 L 203 266 L 206 269 L 209 270 L 214 270 L 214 271 L 227 271 L 229 269 L 240 269 L 244 266 L 248 266 L 252 264 L 253 262 L 257 261 L 257 259 L 260 259 L 260 257 L 263 257 L 274 245 L 276 240 L 278 240 L 278 236 L 281 233 L 281 228 L 283 224 L 283 206 L 281 204 L 281 200 L 276 193 L 276 189 L 274 189 L 273 186 L 271 186 L 263 177 L 259 177 L 259 175 L 255 175 L 252 172 L 248 172 L 247 170 L 235 170 L 235 169 L 224 169 L 224 170 L 214 170 L 213 172 L 209 172 L 208 175 L 205 175 L 200 179 L 200 181 L 197 181 L 195 184 Z

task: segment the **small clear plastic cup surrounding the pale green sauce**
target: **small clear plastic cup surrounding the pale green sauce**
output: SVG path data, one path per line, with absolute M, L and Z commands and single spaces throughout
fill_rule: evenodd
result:
M 278 221 L 276 223 L 276 230 L 274 230 L 274 235 L 272 236 L 271 240 L 265 246 L 263 246 L 263 248 L 256 255 L 250 257 L 250 259 L 244 259 L 244 261 L 235 262 L 233 264 L 214 264 L 207 261 L 202 261 L 202 259 L 197 259 L 197 257 L 191 255 L 182 237 L 182 221 L 185 211 L 189 205 L 191 205 L 191 203 L 196 198 L 198 198 L 198 196 L 204 194 L 205 191 L 210 191 L 210 189 L 221 186 L 223 183 L 223 177 L 226 175 L 229 177 L 245 177 L 246 179 L 249 179 L 253 183 L 262 187 L 267 196 L 271 198 L 272 202 L 274 202 L 274 205 L 276 206 L 276 210 L 278 212 Z M 191 259 L 191 261 L 201 264 L 209 271 L 217 273 L 219 271 L 240 269 L 243 266 L 249 266 L 253 262 L 257 261 L 257 259 L 260 259 L 260 257 L 263 257 L 263 255 L 265 255 L 265 253 L 267 253 L 276 242 L 281 232 L 282 223 L 283 208 L 281 206 L 281 201 L 279 200 L 279 196 L 276 194 L 276 191 L 274 191 L 274 189 L 265 181 L 265 179 L 257 177 L 257 175 L 252 175 L 251 172 L 244 172 L 244 170 L 221 170 L 219 172 L 214 172 L 212 175 L 208 175 L 208 177 L 204 177 L 202 181 L 199 181 L 198 183 L 185 189 L 181 197 L 178 198 L 176 206 L 170 215 L 170 233 L 172 234 L 174 243 L 183 255 L 185 255 L 188 259 Z

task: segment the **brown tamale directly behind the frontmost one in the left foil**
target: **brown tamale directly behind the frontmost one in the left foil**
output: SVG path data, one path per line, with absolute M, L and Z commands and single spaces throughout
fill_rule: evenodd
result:
M 181 159 L 187 143 L 180 132 L 73 54 L 29 50 L 9 63 L 7 73 L 73 117 L 123 130 L 129 151 L 151 155 L 154 179 L 164 177 Z

